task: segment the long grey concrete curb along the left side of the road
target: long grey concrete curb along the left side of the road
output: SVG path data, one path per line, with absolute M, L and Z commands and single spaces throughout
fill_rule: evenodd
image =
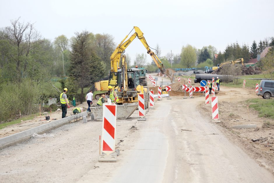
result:
M 24 142 L 31 138 L 31 135 L 34 133 L 43 134 L 60 126 L 66 125 L 68 123 L 72 123 L 78 121 L 83 118 L 83 116 L 87 116 L 87 112 L 82 112 L 77 115 L 68 116 L 66 118 L 62 118 L 56 121 L 52 121 L 49 123 L 45 123 L 40 126 L 36 126 L 34 128 L 15 133 L 13 135 L 9 135 L 7 137 L 0 138 L 0 149 L 4 149 L 6 147 L 18 144 L 20 142 Z

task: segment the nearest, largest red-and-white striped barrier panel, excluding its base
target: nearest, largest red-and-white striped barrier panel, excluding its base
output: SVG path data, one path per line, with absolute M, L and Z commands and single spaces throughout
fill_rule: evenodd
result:
M 101 152 L 106 154 L 113 153 L 115 151 L 115 139 L 116 139 L 116 114 L 117 105 L 114 103 L 103 104 L 103 131 L 102 131 L 102 143 Z

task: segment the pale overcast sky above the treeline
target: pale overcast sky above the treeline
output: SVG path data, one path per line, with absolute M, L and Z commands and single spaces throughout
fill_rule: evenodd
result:
M 70 38 L 86 29 L 111 34 L 118 44 L 137 26 L 150 47 L 160 45 L 163 56 L 170 50 L 180 53 L 186 44 L 212 45 L 223 51 L 229 43 L 250 46 L 253 40 L 272 37 L 273 7 L 273 0 L 5 0 L 0 2 L 0 27 L 21 17 L 21 21 L 35 22 L 36 29 L 50 40 L 61 34 Z M 136 53 L 146 50 L 136 39 L 126 53 L 134 60 Z

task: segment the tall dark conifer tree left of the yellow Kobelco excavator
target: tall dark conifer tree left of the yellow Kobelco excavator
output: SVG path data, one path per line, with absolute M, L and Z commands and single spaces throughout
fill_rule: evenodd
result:
M 100 79 L 106 66 L 91 49 L 89 34 L 88 31 L 76 32 L 71 45 L 70 77 L 74 78 L 81 88 L 81 102 L 84 100 L 84 87 Z

